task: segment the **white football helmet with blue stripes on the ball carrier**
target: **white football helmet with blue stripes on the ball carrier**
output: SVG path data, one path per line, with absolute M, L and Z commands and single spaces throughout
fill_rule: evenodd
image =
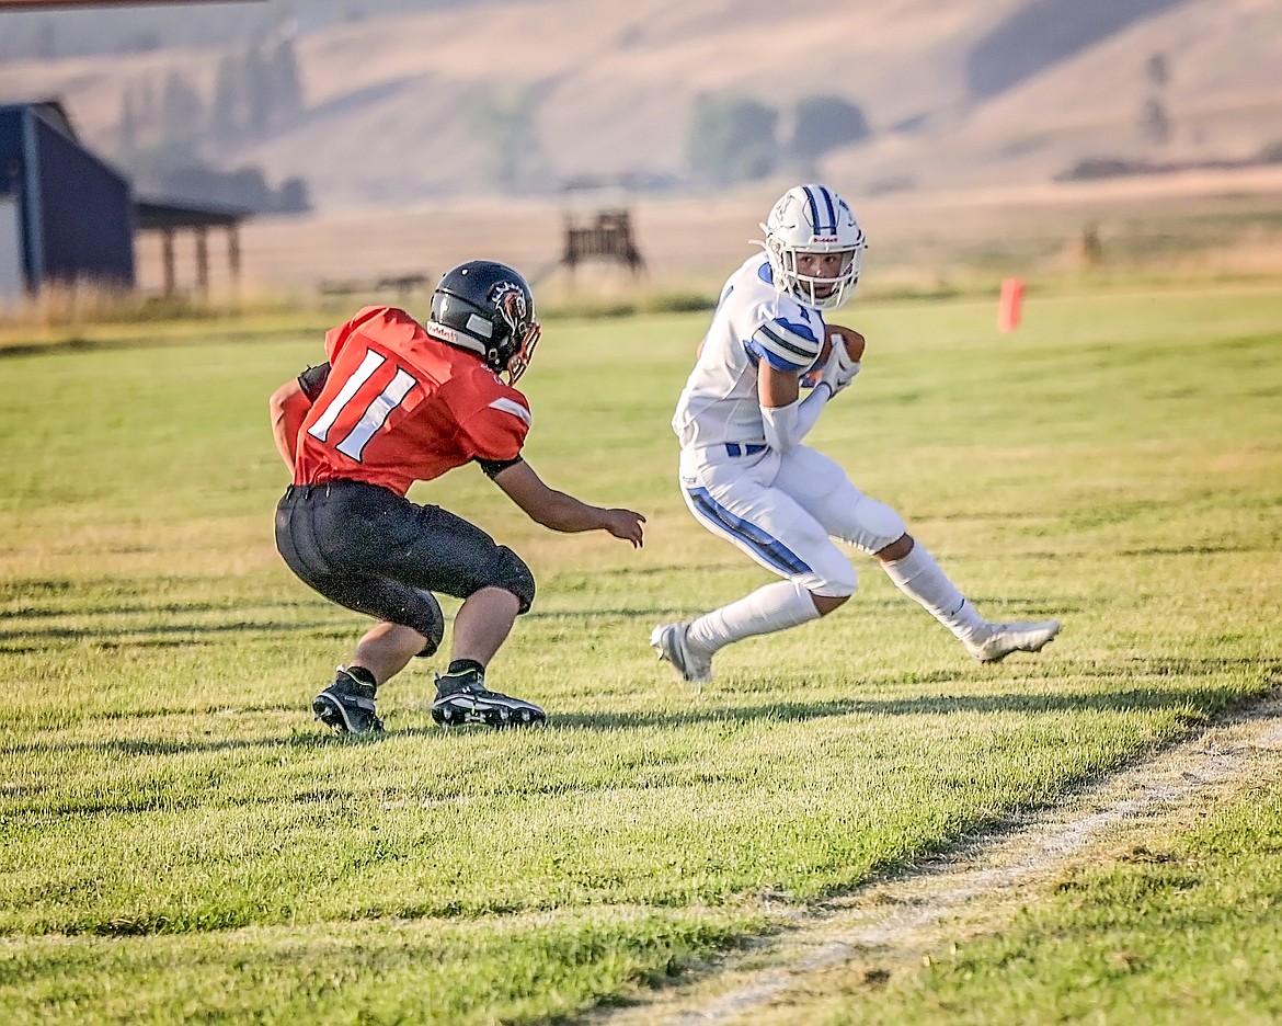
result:
M 850 204 L 831 189 L 792 186 L 760 227 L 774 285 L 781 291 L 815 310 L 836 309 L 855 294 L 867 240 Z M 803 274 L 797 271 L 801 253 L 840 253 L 841 271 L 835 278 Z

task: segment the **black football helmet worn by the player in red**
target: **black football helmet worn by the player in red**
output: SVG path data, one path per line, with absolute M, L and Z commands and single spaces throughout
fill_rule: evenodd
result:
M 538 344 L 535 296 L 526 280 L 495 260 L 468 260 L 446 271 L 432 292 L 429 335 L 479 353 L 515 385 Z

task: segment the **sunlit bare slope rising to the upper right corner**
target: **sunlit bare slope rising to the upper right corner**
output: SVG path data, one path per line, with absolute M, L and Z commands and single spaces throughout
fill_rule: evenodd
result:
M 1145 74 L 1163 55 L 1169 80 Z M 1250 160 L 1282 142 L 1282 8 L 1197 0 L 1118 31 L 1018 86 L 941 117 L 913 139 L 882 137 L 835 155 L 838 181 L 906 176 L 919 187 L 973 189 L 1054 180 L 1079 162 L 1158 165 Z M 1155 96 L 1169 137 L 1142 131 Z

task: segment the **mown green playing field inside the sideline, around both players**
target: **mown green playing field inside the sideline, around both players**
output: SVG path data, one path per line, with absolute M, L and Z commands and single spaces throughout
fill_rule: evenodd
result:
M 533 568 L 491 680 L 553 726 L 437 730 L 427 660 L 381 695 L 388 735 L 355 743 L 309 704 L 365 621 L 272 544 L 267 396 L 319 331 L 183 322 L 0 357 L 0 1021 L 572 1016 L 785 929 L 781 896 L 912 866 L 1268 691 L 1278 309 L 1276 289 L 1033 295 L 1009 336 L 990 303 L 844 310 L 864 373 L 814 444 L 981 610 L 1064 634 L 979 667 L 860 559 L 842 610 L 722 653 L 701 691 L 650 627 L 768 580 L 676 489 L 706 314 L 554 321 L 527 457 L 646 513 L 646 548 L 541 531 L 474 468 L 417 486 Z M 1276 848 L 1258 822 L 1244 843 Z M 1282 943 L 1261 918 L 1247 972 Z M 1276 1011 L 1244 1000 L 1218 1021 Z

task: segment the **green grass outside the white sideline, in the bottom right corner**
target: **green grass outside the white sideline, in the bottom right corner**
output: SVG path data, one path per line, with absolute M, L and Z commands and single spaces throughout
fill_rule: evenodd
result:
M 1076 870 L 1000 936 L 951 943 L 897 976 L 829 981 L 823 997 L 794 1002 L 774 1021 L 1277 1022 L 1279 784 L 1273 772 L 1195 830 Z

